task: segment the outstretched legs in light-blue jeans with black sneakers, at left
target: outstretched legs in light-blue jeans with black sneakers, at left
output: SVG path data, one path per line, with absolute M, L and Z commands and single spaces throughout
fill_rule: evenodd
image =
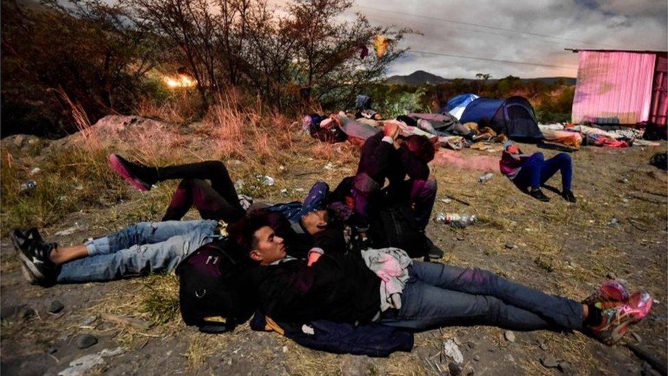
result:
M 218 221 L 140 222 L 82 245 L 57 247 L 32 234 L 12 234 L 31 283 L 111 281 L 123 277 L 169 273 L 202 245 L 220 238 Z

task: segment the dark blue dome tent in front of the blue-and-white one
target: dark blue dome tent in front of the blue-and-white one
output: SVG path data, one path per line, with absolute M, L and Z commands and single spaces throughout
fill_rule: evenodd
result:
M 519 96 L 509 99 L 478 98 L 466 106 L 459 121 L 472 121 L 480 127 L 491 127 L 497 134 L 505 134 L 512 140 L 543 140 L 531 103 Z

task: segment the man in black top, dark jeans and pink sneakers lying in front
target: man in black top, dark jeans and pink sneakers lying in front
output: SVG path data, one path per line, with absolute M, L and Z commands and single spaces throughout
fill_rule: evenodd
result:
M 244 217 L 229 236 L 260 265 L 251 272 L 253 288 L 261 312 L 277 321 L 374 322 L 415 331 L 450 325 L 578 330 L 614 344 L 652 307 L 649 293 L 629 295 L 619 283 L 578 303 L 479 268 L 413 261 L 400 249 L 287 258 L 283 239 L 261 215 Z

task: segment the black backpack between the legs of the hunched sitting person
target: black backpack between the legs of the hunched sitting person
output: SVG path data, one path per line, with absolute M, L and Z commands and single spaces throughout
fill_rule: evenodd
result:
M 409 208 L 402 205 L 386 206 L 370 223 L 369 239 L 374 248 L 395 247 L 403 249 L 411 258 L 427 255 L 426 236 L 413 219 Z

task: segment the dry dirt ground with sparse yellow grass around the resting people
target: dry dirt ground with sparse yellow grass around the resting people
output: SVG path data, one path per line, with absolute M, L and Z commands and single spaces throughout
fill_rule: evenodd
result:
M 329 147 L 329 146 L 328 146 Z M 524 151 L 557 151 L 522 145 Z M 434 214 L 476 214 L 479 223 L 466 229 L 430 223 L 428 235 L 444 249 L 441 262 L 479 266 L 554 294 L 583 299 L 606 280 L 617 277 L 633 290 L 652 293 L 654 308 L 633 327 L 625 341 L 637 344 L 665 364 L 667 347 L 667 175 L 647 164 L 660 147 L 626 150 L 583 147 L 574 160 L 575 204 L 546 190 L 552 198 L 541 203 L 495 174 L 478 183 L 483 171 L 432 166 L 439 184 Z M 497 155 L 465 150 L 464 155 Z M 333 153 L 329 160 L 308 158 L 285 166 L 268 201 L 290 201 L 305 195 L 294 190 L 323 179 L 335 186 L 354 172 Z M 231 175 L 235 165 L 229 163 Z M 549 182 L 560 187 L 558 177 Z M 43 230 L 45 238 L 70 245 L 123 227 L 138 208 L 157 220 L 173 185 L 151 192 L 132 192 L 129 199 L 101 208 L 82 208 Z M 287 195 L 281 189 L 287 189 Z M 450 198 L 448 198 L 450 197 Z M 446 202 L 447 201 L 447 202 Z M 190 216 L 195 217 L 194 213 Z M 72 229 L 71 234 L 55 235 Z M 305 349 L 277 334 L 252 331 L 247 325 L 233 334 L 199 334 L 185 327 L 178 314 L 163 318 L 145 310 L 147 299 L 162 298 L 173 309 L 177 281 L 172 276 L 125 279 L 107 283 L 31 286 L 21 275 L 8 238 L 0 240 L 1 372 L 4 375 L 55 375 L 84 355 L 101 354 L 88 373 L 155 375 L 448 374 L 444 342 L 453 339 L 463 353 L 463 374 L 476 375 L 638 375 L 650 372 L 628 347 L 606 347 L 580 333 L 515 332 L 507 340 L 493 327 L 447 327 L 415 336 L 411 353 L 389 358 L 333 355 Z M 169 304 L 172 299 L 172 304 Z M 49 314 L 54 300 L 63 303 Z M 153 301 L 160 302 L 159 299 Z M 155 313 L 155 312 L 154 312 Z M 150 329 L 114 323 L 105 314 L 153 323 Z M 77 337 L 92 334 L 99 342 L 77 348 Z M 108 352 L 108 351 L 107 351 Z M 554 358 L 561 370 L 547 368 L 541 359 Z M 644 369 L 644 371 L 643 371 Z M 70 368 L 71 371 L 71 368 Z M 456 372 L 455 372 L 456 373 Z M 651 373 L 647 373 L 651 374 Z

